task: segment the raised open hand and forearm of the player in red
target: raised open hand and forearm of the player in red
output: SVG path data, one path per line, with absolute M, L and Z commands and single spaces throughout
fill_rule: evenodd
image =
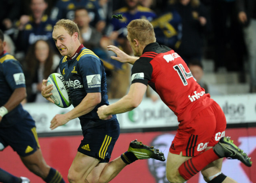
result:
M 134 64 L 134 62 L 136 60 L 139 59 L 139 57 L 133 57 L 130 55 L 127 55 L 126 53 L 124 53 L 124 51 L 121 51 L 121 49 L 119 49 L 118 47 L 115 47 L 113 45 L 109 45 L 107 46 L 108 51 L 113 51 L 117 56 L 111 56 L 112 59 L 117 60 L 118 62 L 122 62 L 122 63 L 129 63 L 129 64 Z

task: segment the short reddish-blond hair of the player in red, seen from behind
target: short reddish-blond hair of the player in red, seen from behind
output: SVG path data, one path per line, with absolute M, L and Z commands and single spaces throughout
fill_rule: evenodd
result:
M 156 42 L 154 27 L 147 19 L 132 20 L 127 30 L 131 40 L 138 40 L 143 45 Z

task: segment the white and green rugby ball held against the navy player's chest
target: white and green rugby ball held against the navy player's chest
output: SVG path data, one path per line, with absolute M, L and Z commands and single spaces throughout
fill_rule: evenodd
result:
M 62 108 L 69 107 L 71 105 L 71 100 L 69 98 L 69 89 L 64 77 L 59 73 L 52 73 L 47 80 L 46 86 L 53 85 L 50 98 L 54 101 L 54 104 Z

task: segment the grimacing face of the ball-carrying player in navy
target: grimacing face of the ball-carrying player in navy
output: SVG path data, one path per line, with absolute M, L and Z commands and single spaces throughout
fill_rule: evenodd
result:
M 69 35 L 63 27 L 54 28 L 52 38 L 62 56 L 72 57 L 76 53 L 73 35 Z

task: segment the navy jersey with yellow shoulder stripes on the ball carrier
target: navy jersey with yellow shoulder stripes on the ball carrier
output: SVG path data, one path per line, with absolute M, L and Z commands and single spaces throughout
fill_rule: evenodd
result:
M 69 95 L 74 107 L 80 104 L 87 93 L 101 93 L 100 104 L 95 106 L 90 113 L 79 117 L 82 130 L 98 126 L 116 118 L 116 115 L 113 115 L 113 118 L 109 120 L 102 120 L 98 117 L 98 107 L 108 105 L 109 103 L 103 62 L 93 51 L 81 45 L 70 60 L 67 56 L 62 57 L 59 66 L 69 87 Z

